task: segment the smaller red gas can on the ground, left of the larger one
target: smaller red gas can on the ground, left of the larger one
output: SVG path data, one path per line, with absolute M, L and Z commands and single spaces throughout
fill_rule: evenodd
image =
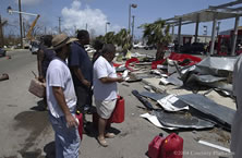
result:
M 165 141 L 164 137 L 157 135 L 153 138 L 153 141 L 148 145 L 148 157 L 149 158 L 159 158 L 161 151 L 161 145 Z

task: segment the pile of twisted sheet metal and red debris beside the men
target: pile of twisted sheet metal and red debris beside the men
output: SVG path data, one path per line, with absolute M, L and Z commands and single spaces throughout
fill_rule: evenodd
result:
M 147 56 L 134 54 L 131 54 L 125 63 L 116 64 L 116 66 L 118 72 L 125 71 L 126 82 L 150 80 L 148 89 L 154 89 L 154 93 L 132 90 L 148 111 L 142 114 L 142 118 L 148 119 L 158 127 L 168 130 L 201 130 L 214 126 L 231 130 L 235 110 L 219 105 L 205 95 L 216 90 L 219 94 L 232 96 L 231 81 L 237 58 L 201 59 L 191 54 L 171 52 L 160 61 L 147 62 Z M 129 75 L 126 75 L 128 72 Z M 158 84 L 153 81 L 158 81 Z M 191 92 L 170 94 L 167 93 L 167 86 L 170 85 L 173 88 L 191 89 Z M 162 86 L 161 90 L 157 90 L 159 86 Z M 206 92 L 201 95 L 197 94 L 199 90 Z

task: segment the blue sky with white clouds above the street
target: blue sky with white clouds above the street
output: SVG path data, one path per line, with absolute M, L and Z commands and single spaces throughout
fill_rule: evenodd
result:
M 168 19 L 174 15 L 207 9 L 208 5 L 218 5 L 232 0 L 22 0 L 22 10 L 40 14 L 38 25 L 46 26 L 47 31 L 57 29 L 58 17 L 62 19 L 62 29 L 72 34 L 75 28 L 85 28 L 96 35 L 105 34 L 106 22 L 110 22 L 108 31 L 118 32 L 122 27 L 128 27 L 129 4 L 136 3 L 137 8 L 132 9 L 135 15 L 135 36 L 142 36 L 142 29 L 136 27 L 144 23 L 152 23 L 157 19 Z M 13 29 L 19 34 L 19 15 L 7 13 L 7 8 L 11 5 L 17 10 L 17 0 L 0 0 L 0 14 L 10 22 L 5 31 Z M 32 22 L 34 17 L 25 16 Z M 15 27 L 14 27 L 15 25 Z M 201 23 L 199 34 L 204 33 L 203 25 L 208 26 L 210 34 L 211 22 Z M 240 22 L 242 25 L 242 20 Z M 8 28 L 9 27 L 9 28 Z M 221 21 L 220 31 L 234 27 L 234 20 Z M 194 34 L 195 25 L 182 26 L 183 34 Z M 177 33 L 177 28 L 176 28 Z

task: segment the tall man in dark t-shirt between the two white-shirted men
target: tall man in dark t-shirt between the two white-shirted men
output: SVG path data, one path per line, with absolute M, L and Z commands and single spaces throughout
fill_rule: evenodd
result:
M 69 66 L 77 96 L 76 110 L 85 113 L 92 106 L 93 95 L 93 63 L 84 49 L 84 45 L 89 44 L 89 34 L 87 31 L 78 31 L 77 38 L 77 41 L 71 44 Z

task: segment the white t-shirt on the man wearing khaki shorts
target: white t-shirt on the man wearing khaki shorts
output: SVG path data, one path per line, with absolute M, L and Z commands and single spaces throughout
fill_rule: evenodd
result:
M 117 83 L 101 83 L 101 77 L 117 77 L 112 63 L 99 57 L 94 63 L 94 97 L 97 100 L 112 100 L 117 98 Z

